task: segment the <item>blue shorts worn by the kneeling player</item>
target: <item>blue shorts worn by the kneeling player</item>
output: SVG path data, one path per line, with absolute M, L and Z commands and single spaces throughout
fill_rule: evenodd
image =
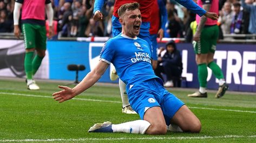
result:
M 127 85 L 126 89 L 129 89 Z M 133 85 L 127 90 L 130 105 L 143 120 L 144 113 L 154 106 L 160 106 L 166 125 L 170 124 L 170 119 L 175 113 L 185 105 L 179 98 L 168 92 L 162 85 L 162 81 L 153 78 Z

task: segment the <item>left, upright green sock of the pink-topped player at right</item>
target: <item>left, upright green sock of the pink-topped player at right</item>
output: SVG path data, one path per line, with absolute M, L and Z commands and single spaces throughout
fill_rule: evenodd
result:
M 198 80 L 199 80 L 200 87 L 206 88 L 207 76 L 208 76 L 208 71 L 207 71 L 206 63 L 199 64 L 198 65 Z

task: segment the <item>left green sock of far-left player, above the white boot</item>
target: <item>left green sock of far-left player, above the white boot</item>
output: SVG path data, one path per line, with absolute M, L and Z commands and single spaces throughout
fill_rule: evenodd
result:
M 24 68 L 25 73 L 28 80 L 32 79 L 32 58 L 34 56 L 34 52 L 26 52 L 25 60 L 24 60 Z

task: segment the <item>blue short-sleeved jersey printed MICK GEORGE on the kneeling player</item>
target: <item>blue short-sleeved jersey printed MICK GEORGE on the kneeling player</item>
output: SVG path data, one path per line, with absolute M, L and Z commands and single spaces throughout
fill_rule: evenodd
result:
M 113 63 L 120 79 L 126 84 L 135 84 L 155 75 L 151 65 L 150 48 L 147 41 L 119 34 L 103 46 L 100 60 Z

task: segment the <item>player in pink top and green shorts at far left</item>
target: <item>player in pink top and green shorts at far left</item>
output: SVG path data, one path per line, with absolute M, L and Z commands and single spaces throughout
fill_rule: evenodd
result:
M 27 88 L 40 89 L 33 76 L 41 65 L 46 50 L 45 9 L 49 22 L 49 38 L 52 35 L 53 10 L 50 0 L 16 0 L 14 6 L 14 34 L 19 38 L 19 16 L 21 14 L 22 33 L 25 43 L 24 68 Z M 36 50 L 36 55 L 34 52 Z

